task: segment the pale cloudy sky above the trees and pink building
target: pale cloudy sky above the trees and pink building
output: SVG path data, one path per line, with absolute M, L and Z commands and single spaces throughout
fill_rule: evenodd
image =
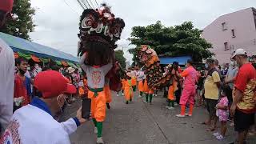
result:
M 94 2 L 94 0 L 89 0 Z M 118 49 L 126 52 L 130 47 L 126 40 L 133 26 L 147 26 L 158 20 L 165 26 L 179 25 L 185 21 L 203 29 L 222 14 L 255 7 L 255 0 L 96 0 L 112 6 L 116 17 L 123 18 L 126 27 Z M 34 42 L 51 46 L 66 53 L 77 54 L 78 22 L 82 8 L 77 0 L 31 0 L 36 9 L 34 23 L 37 25 L 30 37 Z M 93 3 L 95 6 L 95 3 Z

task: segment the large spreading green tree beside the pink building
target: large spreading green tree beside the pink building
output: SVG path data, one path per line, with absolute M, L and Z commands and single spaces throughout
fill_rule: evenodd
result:
M 192 22 L 184 22 L 180 26 L 163 26 L 160 21 L 150 26 L 134 26 L 131 33 L 131 44 L 136 46 L 149 45 L 162 57 L 190 55 L 195 62 L 213 55 L 212 45 L 200 37 L 202 30 L 194 28 Z M 130 49 L 134 54 L 134 62 L 138 48 Z

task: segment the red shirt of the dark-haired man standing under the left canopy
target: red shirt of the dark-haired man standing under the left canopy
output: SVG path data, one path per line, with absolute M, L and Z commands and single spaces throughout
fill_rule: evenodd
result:
M 25 101 L 22 102 L 22 106 L 25 106 L 29 103 L 29 98 L 26 92 L 25 78 L 22 79 L 21 76 L 15 74 L 14 78 L 14 98 L 23 97 Z

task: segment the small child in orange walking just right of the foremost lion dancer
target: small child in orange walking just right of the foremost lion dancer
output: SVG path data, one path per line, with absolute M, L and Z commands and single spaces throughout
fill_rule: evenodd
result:
M 131 77 L 128 75 L 126 76 L 126 80 L 124 82 L 124 94 L 126 98 L 126 104 L 128 104 L 129 101 L 132 101 L 132 98 L 134 96 L 133 87 L 131 84 Z

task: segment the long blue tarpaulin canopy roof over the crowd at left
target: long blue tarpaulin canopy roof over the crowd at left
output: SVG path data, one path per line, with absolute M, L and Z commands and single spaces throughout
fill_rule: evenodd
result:
M 14 50 L 14 52 L 19 51 L 22 53 L 34 54 L 38 58 L 52 58 L 58 61 L 78 62 L 78 58 L 71 54 L 66 54 L 48 46 L 43 46 L 35 42 L 14 37 L 10 34 L 0 32 L 0 38 L 2 38 L 2 40 L 5 41 Z

